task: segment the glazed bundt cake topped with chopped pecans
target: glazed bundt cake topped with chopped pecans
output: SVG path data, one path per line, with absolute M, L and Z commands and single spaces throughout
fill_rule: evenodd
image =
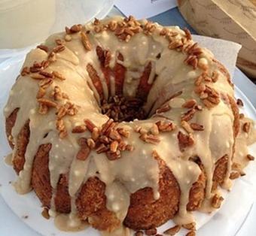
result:
M 62 229 L 194 225 L 254 159 L 240 104 L 187 29 L 133 17 L 66 27 L 26 56 L 5 107 L 15 189 L 33 189 Z

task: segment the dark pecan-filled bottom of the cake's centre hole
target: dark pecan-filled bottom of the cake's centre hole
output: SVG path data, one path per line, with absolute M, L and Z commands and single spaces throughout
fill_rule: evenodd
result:
M 102 114 L 107 115 L 115 122 L 145 120 L 147 113 L 143 109 L 144 101 L 140 98 L 125 98 L 115 95 L 103 100 L 101 109 Z

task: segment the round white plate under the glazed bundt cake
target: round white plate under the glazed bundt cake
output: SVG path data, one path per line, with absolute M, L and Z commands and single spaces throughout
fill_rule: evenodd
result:
M 0 65 L 0 156 L 6 156 L 11 152 L 5 138 L 5 124 L 2 109 L 7 101 L 11 86 L 23 64 L 23 58 L 24 56 L 20 55 L 16 58 L 8 59 L 8 61 Z M 244 101 L 245 107 L 243 112 L 253 120 L 256 120 L 256 111 L 250 101 L 248 101 L 248 98 L 237 88 L 236 95 Z M 251 147 L 251 153 L 256 153 L 255 144 Z M 207 234 L 207 236 L 213 236 L 218 234 L 236 234 L 236 231 L 241 227 L 241 219 L 245 219 L 251 208 L 253 196 L 256 192 L 255 184 L 253 184 L 256 182 L 256 163 L 251 163 L 245 171 L 247 175 L 242 179 L 236 180 L 232 192 L 229 194 L 224 192 L 224 198 L 226 198 L 227 201 L 225 201 L 221 210 L 210 215 L 196 213 L 197 222 L 201 226 L 200 230 L 197 231 L 197 235 L 204 236 Z M 53 219 L 46 220 L 41 216 L 41 204 L 34 192 L 30 192 L 26 195 L 18 195 L 14 191 L 14 188 L 9 182 L 16 179 L 16 174 L 11 167 L 5 165 L 4 159 L 2 158 L 0 158 L 0 173 L 0 183 L 2 184 L 0 191 L 2 198 L 5 199 L 6 204 L 11 207 L 11 210 L 13 210 L 23 222 L 43 235 L 71 235 L 71 233 L 59 231 L 55 228 Z M 237 204 L 238 202 L 241 204 Z M 28 216 L 28 218 L 24 218 L 23 216 Z M 166 225 L 161 228 L 166 228 Z M 72 235 L 75 236 L 84 234 L 99 235 L 93 228 L 87 228 L 86 231 L 72 233 Z M 181 231 L 181 234 L 184 234 L 184 231 Z

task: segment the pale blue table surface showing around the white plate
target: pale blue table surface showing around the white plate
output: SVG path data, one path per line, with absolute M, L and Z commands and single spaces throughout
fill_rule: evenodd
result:
M 117 9 L 113 8 L 110 12 L 110 15 L 120 14 Z M 187 27 L 191 32 L 194 32 L 190 26 L 187 25 L 185 20 L 179 14 L 177 8 L 173 8 L 170 11 L 166 11 L 163 14 L 157 15 L 156 17 L 151 17 L 150 20 L 158 22 L 162 25 L 177 25 L 181 28 Z M 195 32 L 194 32 L 195 33 Z M 248 78 L 242 74 L 239 69 L 235 71 L 235 79 L 234 83 L 236 86 L 239 86 L 239 89 L 242 90 L 243 93 L 249 98 L 254 107 L 256 107 L 256 97 L 254 96 L 256 93 L 256 86 L 252 83 Z M 255 201 L 256 203 L 256 201 Z M 251 211 L 246 217 L 245 223 L 242 228 L 236 234 L 236 236 L 251 236 L 255 235 L 256 225 L 256 204 L 251 207 Z M 5 204 L 5 201 L 0 197 L 0 235 L 1 236 L 35 236 L 39 235 L 32 228 L 29 228 L 26 224 L 24 224 L 18 216 L 16 216 L 8 205 Z M 221 235 L 221 236 L 229 236 L 229 235 Z M 233 235 L 232 235 L 233 236 Z

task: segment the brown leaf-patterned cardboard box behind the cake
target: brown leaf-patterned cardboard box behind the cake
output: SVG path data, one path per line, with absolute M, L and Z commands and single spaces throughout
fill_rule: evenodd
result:
M 178 8 L 200 35 L 242 44 L 237 66 L 256 80 L 256 0 L 178 0 Z

